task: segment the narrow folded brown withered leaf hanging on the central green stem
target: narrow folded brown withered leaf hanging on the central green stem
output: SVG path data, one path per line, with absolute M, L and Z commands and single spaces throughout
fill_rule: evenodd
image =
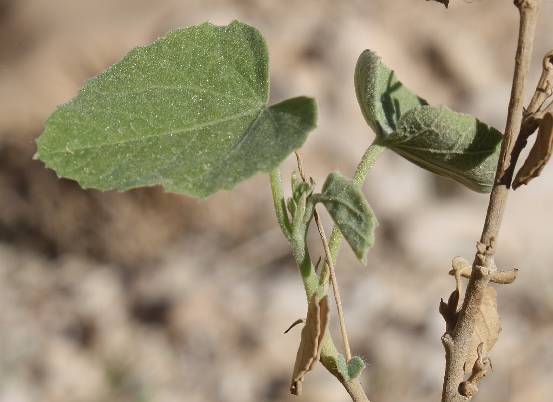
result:
M 296 362 L 294 363 L 294 372 L 290 385 L 292 395 L 301 395 L 301 383 L 304 380 L 305 373 L 313 369 L 315 363 L 321 356 L 322 339 L 328 329 L 330 320 L 330 302 L 328 296 L 319 300 L 319 294 L 315 293 L 311 297 L 309 306 L 307 306 L 307 317 L 305 326 L 301 329 L 301 341 L 296 353 Z

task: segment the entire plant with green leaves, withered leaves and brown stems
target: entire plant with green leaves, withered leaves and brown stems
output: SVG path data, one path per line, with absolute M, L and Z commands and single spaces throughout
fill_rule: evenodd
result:
M 176 30 L 132 50 L 48 118 L 37 140 L 36 158 L 83 187 L 128 190 L 163 185 L 202 199 L 269 173 L 276 217 L 293 250 L 309 305 L 291 392 L 301 393 L 306 372 L 320 360 L 356 401 L 367 400 L 358 379 L 364 363 L 349 351 L 335 264 L 342 236 L 366 262 L 377 222 L 361 185 L 375 160 L 392 149 L 473 191 L 491 192 L 474 262 L 453 260 L 456 289 L 440 305 L 446 320 L 443 400 L 467 400 L 487 375 L 488 352 L 500 330 L 496 296 L 488 282 L 511 283 L 516 278 L 514 270 L 497 273 L 495 237 L 518 154 L 538 127 L 539 141 L 513 186 L 527 184 L 550 156 L 553 121 L 550 107 L 541 108 L 551 94 L 550 55 L 524 113 L 521 102 L 539 1 L 515 4 L 521 12 L 521 33 L 504 135 L 472 116 L 427 105 L 374 52 L 364 51 L 354 82 L 364 117 L 376 134 L 373 143 L 352 180 L 331 173 L 320 193 L 307 180 L 296 151 L 299 177 L 291 175 L 291 197 L 285 200 L 279 165 L 315 128 L 316 103 L 299 97 L 268 106 L 267 46 L 257 29 L 235 21 L 227 27 L 204 23 Z M 328 242 L 317 203 L 336 223 Z M 313 219 L 325 249 L 322 264 L 313 263 L 306 244 Z M 462 302 L 461 277 L 471 278 Z M 338 353 L 327 328 L 331 284 L 345 356 Z M 464 375 L 470 377 L 463 380 Z

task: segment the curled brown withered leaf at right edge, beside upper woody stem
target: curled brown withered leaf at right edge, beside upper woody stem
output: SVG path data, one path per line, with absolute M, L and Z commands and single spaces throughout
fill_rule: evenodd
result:
M 513 181 L 513 190 L 538 177 L 553 153 L 553 114 L 545 113 L 541 119 L 536 142 Z

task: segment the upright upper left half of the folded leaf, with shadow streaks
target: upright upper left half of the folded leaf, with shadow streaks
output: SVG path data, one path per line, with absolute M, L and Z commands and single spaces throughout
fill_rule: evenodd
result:
M 355 91 L 361 111 L 379 139 L 396 130 L 403 113 L 415 106 L 427 105 L 404 87 L 371 50 L 365 50 L 357 61 Z

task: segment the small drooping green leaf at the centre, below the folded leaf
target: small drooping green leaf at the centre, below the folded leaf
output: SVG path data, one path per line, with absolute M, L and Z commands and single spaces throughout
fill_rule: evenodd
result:
M 322 186 L 322 194 L 313 197 L 316 202 L 325 205 L 359 261 L 366 264 L 378 222 L 361 187 L 335 171 L 328 175 Z

